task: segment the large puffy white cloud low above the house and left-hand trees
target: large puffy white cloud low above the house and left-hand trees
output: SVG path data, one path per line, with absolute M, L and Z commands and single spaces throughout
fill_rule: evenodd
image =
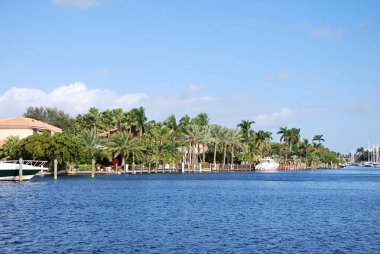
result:
M 191 88 L 191 87 L 190 87 Z M 189 88 L 185 90 L 188 91 Z M 191 88 L 190 90 L 194 90 Z M 195 89 L 197 90 L 197 89 Z M 178 117 L 185 114 L 195 116 L 200 112 L 206 112 L 213 120 L 232 118 L 241 113 L 243 102 L 232 103 L 233 99 L 219 99 L 207 95 L 188 95 L 185 92 L 152 96 L 147 93 L 118 94 L 107 89 L 89 88 L 83 83 L 76 82 L 70 85 L 57 87 L 45 92 L 34 88 L 13 87 L 0 94 L 0 118 L 20 116 L 25 113 L 28 106 L 57 107 L 69 113 L 71 116 L 83 114 L 90 107 L 100 110 L 122 108 L 127 111 L 134 107 L 144 107 L 149 119 L 164 120 L 174 113 Z M 246 102 L 244 102 L 245 104 Z M 228 109 L 225 109 L 226 105 Z M 218 122 L 217 122 L 218 123 Z

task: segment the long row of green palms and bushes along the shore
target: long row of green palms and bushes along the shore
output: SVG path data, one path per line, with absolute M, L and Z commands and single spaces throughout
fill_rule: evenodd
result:
M 255 122 L 241 120 L 236 128 L 211 124 L 207 113 L 188 115 L 177 120 L 174 114 L 164 121 L 148 120 L 143 107 L 123 111 L 121 108 L 87 113 L 71 118 L 64 111 L 49 107 L 28 107 L 25 117 L 63 129 L 55 135 L 32 135 L 20 140 L 8 137 L 0 158 L 59 160 L 66 163 L 88 163 L 93 158 L 109 164 L 120 158 L 122 164 L 176 164 L 190 167 L 199 163 L 224 167 L 234 163 L 257 163 L 272 156 L 280 162 L 337 163 L 338 154 L 323 145 L 323 135 L 312 140 L 301 138 L 299 128 L 280 127 L 280 142 L 273 133 L 254 130 Z

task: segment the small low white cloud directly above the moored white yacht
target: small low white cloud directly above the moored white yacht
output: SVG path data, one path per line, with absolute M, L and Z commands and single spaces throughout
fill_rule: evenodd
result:
M 253 120 L 259 128 L 278 127 L 289 123 L 296 117 L 297 113 L 296 109 L 286 107 L 277 112 L 257 115 Z

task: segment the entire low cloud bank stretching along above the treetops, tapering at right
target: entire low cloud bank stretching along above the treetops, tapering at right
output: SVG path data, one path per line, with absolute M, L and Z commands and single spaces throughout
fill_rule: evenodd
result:
M 257 105 L 251 96 L 231 95 L 229 98 L 218 98 L 204 94 L 204 86 L 189 85 L 179 93 L 150 95 L 141 93 L 119 94 L 107 89 L 89 88 L 81 82 L 60 86 L 45 92 L 36 88 L 13 87 L 0 94 L 0 118 L 21 116 L 28 106 L 57 107 L 75 117 L 96 107 L 101 111 L 122 108 L 129 111 L 135 107 L 144 107 L 147 117 L 163 121 L 170 114 L 179 120 L 185 114 L 190 117 L 206 112 L 211 123 L 236 128 L 242 119 L 252 119 L 259 128 L 277 128 L 291 124 L 300 116 L 318 115 L 315 109 L 283 107 L 274 112 L 257 114 Z

